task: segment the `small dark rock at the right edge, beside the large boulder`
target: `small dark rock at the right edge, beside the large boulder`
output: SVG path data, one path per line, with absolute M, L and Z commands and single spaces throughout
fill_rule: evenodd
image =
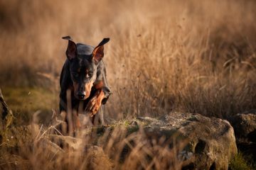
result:
M 256 114 L 237 114 L 230 119 L 239 142 L 256 142 Z

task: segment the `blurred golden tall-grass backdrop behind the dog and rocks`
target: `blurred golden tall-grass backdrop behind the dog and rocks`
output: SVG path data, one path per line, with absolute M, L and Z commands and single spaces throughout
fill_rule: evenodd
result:
M 70 35 L 105 47 L 106 118 L 256 108 L 256 1 L 0 0 L 0 87 L 24 122 L 58 110 Z

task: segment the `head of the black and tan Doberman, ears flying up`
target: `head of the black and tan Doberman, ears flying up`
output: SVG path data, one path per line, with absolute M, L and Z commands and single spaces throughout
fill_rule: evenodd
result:
M 70 62 L 70 77 L 73 81 L 74 96 L 85 100 L 90 96 L 93 83 L 97 77 L 97 64 L 104 57 L 104 45 L 110 38 L 104 38 L 97 47 L 76 44 L 70 36 L 63 37 L 68 40 L 65 52 Z

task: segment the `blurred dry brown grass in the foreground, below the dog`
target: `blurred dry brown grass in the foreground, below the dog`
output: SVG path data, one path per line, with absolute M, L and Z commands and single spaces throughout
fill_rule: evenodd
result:
M 1 144 L 0 169 L 181 169 L 186 165 L 178 154 L 184 142 L 149 140 L 136 126 L 132 131 L 131 122 L 87 128 L 76 138 L 65 137 L 65 142 L 52 134 L 53 126 L 32 123 L 10 128 L 5 136 L 9 140 Z

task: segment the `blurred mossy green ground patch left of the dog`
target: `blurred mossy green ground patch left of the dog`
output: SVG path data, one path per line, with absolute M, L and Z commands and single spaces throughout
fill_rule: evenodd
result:
M 1 87 L 4 99 L 16 117 L 16 123 L 29 123 L 33 113 L 48 116 L 58 109 L 58 93 L 43 87 Z

